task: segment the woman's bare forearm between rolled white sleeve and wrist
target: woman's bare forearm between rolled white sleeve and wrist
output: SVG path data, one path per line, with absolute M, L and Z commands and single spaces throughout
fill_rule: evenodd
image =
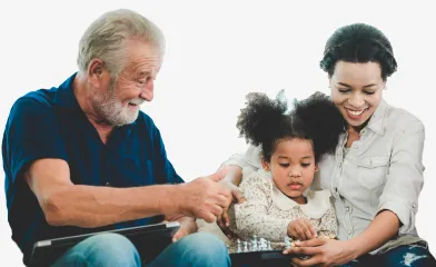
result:
M 398 230 L 398 217 L 390 210 L 383 210 L 364 233 L 349 240 L 355 258 L 382 247 L 395 237 Z

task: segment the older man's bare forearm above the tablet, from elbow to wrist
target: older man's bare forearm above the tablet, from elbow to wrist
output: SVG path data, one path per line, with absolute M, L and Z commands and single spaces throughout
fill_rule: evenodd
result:
M 51 225 L 93 228 L 155 215 L 177 214 L 178 201 L 174 201 L 177 187 L 62 186 L 44 199 L 42 207 Z

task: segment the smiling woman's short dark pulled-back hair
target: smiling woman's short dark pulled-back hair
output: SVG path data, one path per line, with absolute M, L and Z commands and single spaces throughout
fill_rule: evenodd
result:
M 385 81 L 397 70 L 397 61 L 387 37 L 377 28 L 365 23 L 344 26 L 327 40 L 320 68 L 333 76 L 338 61 L 377 62 Z

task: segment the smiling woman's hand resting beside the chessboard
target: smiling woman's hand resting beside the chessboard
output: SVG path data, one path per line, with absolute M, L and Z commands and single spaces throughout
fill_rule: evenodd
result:
M 309 259 L 293 258 L 291 261 L 300 267 L 330 267 L 346 264 L 356 258 L 354 249 L 346 240 L 335 240 L 325 237 L 295 243 L 284 254 L 308 255 Z

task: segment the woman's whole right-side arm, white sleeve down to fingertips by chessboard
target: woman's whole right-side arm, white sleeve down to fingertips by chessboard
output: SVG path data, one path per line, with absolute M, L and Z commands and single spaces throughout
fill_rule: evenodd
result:
M 308 260 L 296 259 L 297 265 L 340 265 L 382 247 L 398 234 L 415 229 L 417 201 L 424 181 L 424 125 L 414 119 L 407 123 L 406 129 L 398 132 L 393 145 L 386 185 L 379 198 L 379 211 L 368 228 L 346 241 L 319 239 L 299 244 L 288 253 L 303 253 L 314 257 Z

